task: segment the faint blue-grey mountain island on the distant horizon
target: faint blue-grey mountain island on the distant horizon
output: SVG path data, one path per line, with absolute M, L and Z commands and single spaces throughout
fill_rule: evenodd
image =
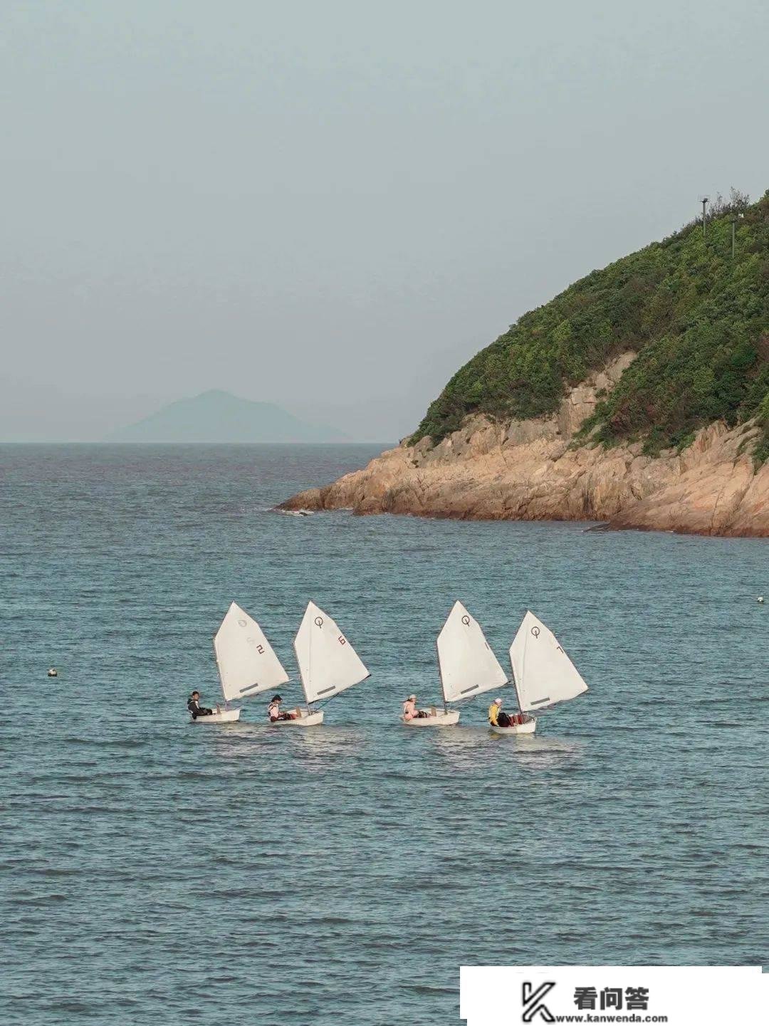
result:
M 334 428 L 307 424 L 272 402 L 210 389 L 179 399 L 113 432 L 111 442 L 338 442 Z

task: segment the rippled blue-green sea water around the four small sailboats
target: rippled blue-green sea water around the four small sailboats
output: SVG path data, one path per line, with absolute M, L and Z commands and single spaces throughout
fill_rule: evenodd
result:
M 769 961 L 767 543 L 270 511 L 374 451 L 0 448 L 3 1022 L 443 1026 L 460 963 Z M 326 725 L 190 724 L 229 602 L 296 676 L 310 597 L 372 671 Z M 400 726 L 455 598 L 589 693 Z

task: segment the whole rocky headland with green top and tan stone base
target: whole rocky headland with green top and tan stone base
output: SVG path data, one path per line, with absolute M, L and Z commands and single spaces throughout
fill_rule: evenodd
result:
M 590 271 L 287 508 L 769 536 L 769 190 Z

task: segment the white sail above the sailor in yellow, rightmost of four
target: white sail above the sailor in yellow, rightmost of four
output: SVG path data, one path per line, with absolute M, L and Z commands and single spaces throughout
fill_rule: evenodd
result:
M 533 613 L 527 613 L 510 645 L 510 664 L 524 712 L 553 706 L 587 690 L 559 639 Z

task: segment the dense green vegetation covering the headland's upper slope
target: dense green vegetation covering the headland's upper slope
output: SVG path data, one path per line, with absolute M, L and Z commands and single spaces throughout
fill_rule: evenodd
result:
M 524 314 L 457 371 L 413 440 L 438 441 L 472 412 L 552 413 L 568 386 L 626 350 L 638 358 L 585 426 L 599 441 L 644 438 L 655 452 L 712 421 L 756 417 L 756 456 L 769 457 L 769 192 L 748 205 L 732 190 L 704 239 L 693 222 Z

